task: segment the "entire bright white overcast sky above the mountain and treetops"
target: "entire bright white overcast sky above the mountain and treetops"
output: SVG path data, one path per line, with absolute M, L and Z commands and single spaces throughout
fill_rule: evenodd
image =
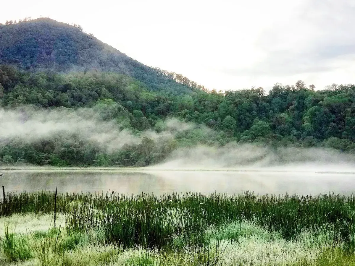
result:
M 146 65 L 210 89 L 355 83 L 354 0 L 50 2 L 4 1 L 0 22 L 76 23 Z

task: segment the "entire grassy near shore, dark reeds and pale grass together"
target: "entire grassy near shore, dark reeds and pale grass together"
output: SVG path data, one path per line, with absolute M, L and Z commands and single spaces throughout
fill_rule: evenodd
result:
M 355 196 L 8 194 L 1 265 L 355 265 Z

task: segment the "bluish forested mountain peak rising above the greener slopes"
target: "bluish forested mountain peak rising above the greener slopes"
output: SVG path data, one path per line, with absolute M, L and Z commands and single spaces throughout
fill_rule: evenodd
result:
M 191 93 L 189 86 L 175 82 L 112 46 L 80 26 L 50 18 L 0 25 L 0 64 L 25 70 L 110 71 L 145 83 L 153 91 L 172 95 Z

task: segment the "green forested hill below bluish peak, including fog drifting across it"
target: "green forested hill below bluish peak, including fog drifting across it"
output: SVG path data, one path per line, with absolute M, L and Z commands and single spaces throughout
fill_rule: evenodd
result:
M 0 106 L 0 165 L 147 166 L 179 147 L 229 142 L 355 153 L 351 84 L 174 96 L 123 74 L 0 65 Z

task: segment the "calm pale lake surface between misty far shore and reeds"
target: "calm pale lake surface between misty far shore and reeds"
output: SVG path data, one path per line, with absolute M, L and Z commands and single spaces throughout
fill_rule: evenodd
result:
M 335 171 L 336 170 L 336 171 Z M 321 194 L 355 192 L 355 170 L 258 168 L 246 170 L 164 170 L 124 168 L 1 168 L 6 191 Z

